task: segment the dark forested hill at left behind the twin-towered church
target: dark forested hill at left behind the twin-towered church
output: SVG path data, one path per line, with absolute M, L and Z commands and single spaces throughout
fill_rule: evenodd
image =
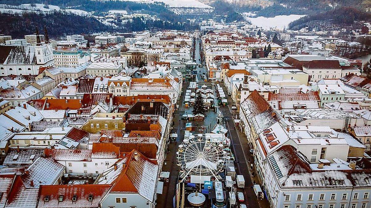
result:
M 44 25 L 52 37 L 63 36 L 64 33 L 82 34 L 112 30 L 93 17 L 61 12 L 0 14 L 0 19 L 0 34 L 12 34 L 13 38 L 24 38 L 26 34 L 35 33 L 36 26 L 43 28 Z

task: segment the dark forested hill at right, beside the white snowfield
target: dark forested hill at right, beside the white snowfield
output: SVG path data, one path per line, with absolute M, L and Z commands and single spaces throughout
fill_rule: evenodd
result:
M 351 25 L 354 21 L 370 20 L 371 14 L 364 13 L 353 7 L 340 7 L 330 11 L 325 11 L 319 14 L 302 17 L 289 24 L 289 28 L 298 30 L 303 27 L 309 27 L 311 30 L 326 21 L 331 21 L 331 24 Z

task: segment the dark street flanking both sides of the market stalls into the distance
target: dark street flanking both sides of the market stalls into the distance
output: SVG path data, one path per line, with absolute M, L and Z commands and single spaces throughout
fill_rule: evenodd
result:
M 196 51 L 195 51 L 195 58 L 196 63 L 200 64 L 200 47 L 199 41 L 196 39 Z M 198 67 L 198 66 L 197 66 Z M 207 75 L 206 69 L 204 67 L 197 68 L 197 77 L 196 81 L 199 86 L 206 84 L 211 88 L 211 83 L 204 81 L 202 78 L 203 73 Z M 220 84 L 222 86 L 223 83 Z M 181 94 L 181 99 L 178 101 L 179 109 L 175 111 L 173 121 L 174 121 L 174 128 L 171 131 L 172 133 L 177 133 L 178 138 L 176 142 L 172 142 L 169 145 L 170 152 L 166 155 L 165 164 L 162 167 L 162 171 L 170 172 L 170 178 L 168 184 L 164 184 L 163 194 L 159 194 L 157 198 L 157 205 L 156 208 L 173 208 L 173 198 L 175 195 L 175 187 L 178 181 L 178 174 L 180 168 L 177 166 L 177 158 L 175 152 L 178 151 L 178 145 L 184 139 L 184 130 L 185 130 L 185 123 L 181 121 L 181 116 L 184 114 L 184 105 L 183 100 L 185 96 L 185 90 L 187 89 L 188 83 L 183 84 L 183 93 Z M 226 89 L 223 87 L 223 90 L 226 92 Z M 244 189 L 237 189 L 237 191 L 243 191 L 245 196 L 244 204 L 249 205 L 250 208 L 269 208 L 269 203 L 263 199 L 257 199 L 255 192 L 253 190 L 253 183 L 252 180 L 258 182 L 257 179 L 252 179 L 250 175 L 250 161 L 253 161 L 252 154 L 250 154 L 250 147 L 247 143 L 246 136 L 237 130 L 233 121 L 233 112 L 230 110 L 233 104 L 232 98 L 227 97 L 228 105 L 222 106 L 219 110 L 223 113 L 224 118 L 226 120 L 226 128 L 228 130 L 228 136 L 231 138 L 231 150 L 232 153 L 235 155 L 235 166 L 236 172 L 239 175 L 243 175 L 245 178 L 245 188 Z

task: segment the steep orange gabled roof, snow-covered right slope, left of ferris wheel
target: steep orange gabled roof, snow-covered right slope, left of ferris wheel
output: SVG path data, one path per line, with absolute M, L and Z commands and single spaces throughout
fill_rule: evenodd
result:
M 116 169 L 116 170 L 115 170 Z M 121 161 L 103 172 L 98 184 L 112 184 L 110 192 L 138 193 L 153 202 L 158 165 L 133 150 Z

